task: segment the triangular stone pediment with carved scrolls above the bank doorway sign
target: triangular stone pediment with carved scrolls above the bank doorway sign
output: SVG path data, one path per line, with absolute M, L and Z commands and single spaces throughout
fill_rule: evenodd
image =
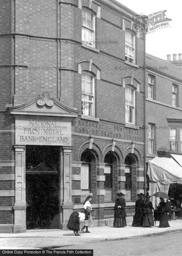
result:
M 9 111 L 11 114 L 63 117 L 77 117 L 79 113 L 51 97 L 48 91 L 41 92 L 40 96 L 22 105 L 9 107 Z

